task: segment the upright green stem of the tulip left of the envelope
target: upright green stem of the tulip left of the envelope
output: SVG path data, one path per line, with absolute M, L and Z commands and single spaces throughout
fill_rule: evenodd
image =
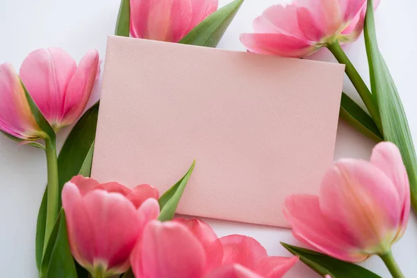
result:
M 58 162 L 56 157 L 55 139 L 45 139 L 45 152 L 47 154 L 47 221 L 45 224 L 44 250 L 47 247 L 49 236 L 54 228 L 58 216 Z

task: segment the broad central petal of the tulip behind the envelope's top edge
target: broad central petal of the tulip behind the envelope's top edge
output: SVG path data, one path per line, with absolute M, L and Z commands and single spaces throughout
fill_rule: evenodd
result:
M 156 0 L 149 8 L 147 32 L 150 40 L 179 42 L 188 31 L 191 0 Z

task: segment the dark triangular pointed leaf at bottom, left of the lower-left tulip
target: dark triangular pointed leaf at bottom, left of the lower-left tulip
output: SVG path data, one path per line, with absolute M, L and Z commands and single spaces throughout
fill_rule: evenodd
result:
M 42 264 L 40 278 L 77 278 L 74 259 L 68 243 L 67 221 L 61 209 L 51 237 L 47 244 Z

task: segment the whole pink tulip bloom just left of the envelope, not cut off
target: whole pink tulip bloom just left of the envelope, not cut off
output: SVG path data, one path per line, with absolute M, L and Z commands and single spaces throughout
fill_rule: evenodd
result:
M 97 50 L 88 51 L 77 66 L 63 49 L 38 49 L 26 57 L 19 75 L 44 117 L 58 131 L 83 112 L 98 67 Z

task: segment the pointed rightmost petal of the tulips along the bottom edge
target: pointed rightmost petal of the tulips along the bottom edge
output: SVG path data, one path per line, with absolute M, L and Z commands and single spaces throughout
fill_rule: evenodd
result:
M 297 261 L 297 256 L 292 256 L 291 258 L 269 256 L 256 266 L 255 272 L 266 278 L 281 278 Z

